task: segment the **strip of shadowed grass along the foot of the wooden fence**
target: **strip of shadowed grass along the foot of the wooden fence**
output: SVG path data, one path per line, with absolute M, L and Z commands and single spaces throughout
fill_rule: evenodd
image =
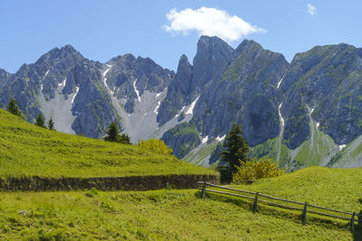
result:
M 195 196 L 201 199 L 201 191 L 197 191 Z M 242 209 L 252 212 L 253 200 L 241 199 L 229 197 L 223 194 L 214 194 L 214 193 L 205 193 L 205 199 L 213 199 L 220 202 L 229 202 L 234 205 L 239 206 Z M 258 202 L 257 211 L 258 214 L 272 216 L 274 218 L 281 218 L 284 220 L 292 221 L 298 225 L 302 225 L 302 211 L 300 210 L 291 210 L 291 209 L 282 209 L 280 207 L 271 206 Z M 361 217 L 362 218 L 362 217 Z M 357 224 L 357 222 L 356 222 Z M 314 225 L 319 227 L 325 227 L 333 230 L 350 230 L 350 222 L 347 220 L 329 218 L 323 216 L 317 216 L 315 214 L 308 213 L 307 217 L 307 226 Z M 359 226 L 359 224 L 358 224 Z M 354 240 L 362 240 L 361 227 L 355 226 L 354 236 L 357 235 L 357 238 Z

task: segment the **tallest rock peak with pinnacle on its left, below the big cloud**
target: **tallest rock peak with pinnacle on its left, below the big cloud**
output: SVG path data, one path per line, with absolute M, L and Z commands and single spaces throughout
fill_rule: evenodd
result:
M 217 78 L 233 55 L 233 48 L 217 37 L 202 36 L 197 42 L 193 66 L 185 55 L 178 63 L 176 78 L 167 89 L 159 108 L 157 122 L 164 125 L 183 107 L 190 105 L 204 91 L 205 84 Z

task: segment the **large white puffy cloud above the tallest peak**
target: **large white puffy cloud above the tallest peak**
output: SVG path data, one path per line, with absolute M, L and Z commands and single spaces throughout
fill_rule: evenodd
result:
M 266 32 L 238 16 L 205 6 L 199 9 L 186 8 L 180 12 L 174 8 L 166 16 L 169 25 L 163 27 L 167 32 L 188 34 L 196 31 L 200 35 L 218 36 L 226 42 L 239 41 L 254 32 Z

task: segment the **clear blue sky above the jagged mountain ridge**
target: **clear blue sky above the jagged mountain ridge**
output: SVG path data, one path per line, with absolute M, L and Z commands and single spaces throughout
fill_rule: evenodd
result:
M 202 7 L 207 11 L 200 15 Z M 130 52 L 176 70 L 183 53 L 192 62 L 203 32 L 222 35 L 233 48 L 252 39 L 291 61 L 296 52 L 315 45 L 362 47 L 361 11 L 357 0 L 1 0 L 0 68 L 15 72 L 52 48 L 71 44 L 90 60 L 106 62 Z M 221 19 L 213 13 L 224 14 L 231 24 L 210 31 L 209 23 Z M 211 22 L 200 23 L 200 17 Z M 249 31 L 238 29 L 242 23 Z

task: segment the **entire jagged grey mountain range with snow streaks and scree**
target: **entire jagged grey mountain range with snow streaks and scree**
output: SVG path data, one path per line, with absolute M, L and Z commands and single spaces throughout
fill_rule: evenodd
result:
M 66 45 L 13 74 L 0 69 L 0 107 L 11 97 L 29 122 L 42 114 L 58 131 L 101 138 L 116 121 L 133 143 L 160 138 L 205 166 L 217 165 L 233 123 L 251 157 L 290 170 L 362 166 L 362 49 L 345 43 L 289 63 L 252 40 L 233 49 L 202 36 L 176 72 L 131 54 L 100 63 Z

